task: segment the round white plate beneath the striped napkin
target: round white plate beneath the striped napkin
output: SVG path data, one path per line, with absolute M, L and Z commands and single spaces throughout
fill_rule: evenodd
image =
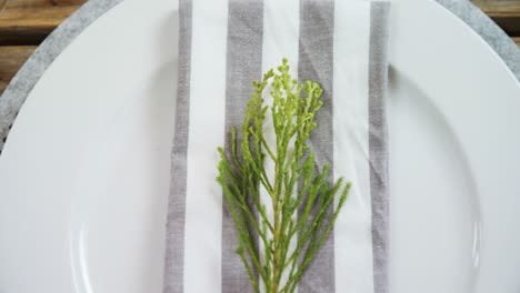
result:
M 177 21 L 127 0 L 30 93 L 0 156 L 0 292 L 161 292 Z M 391 292 L 519 292 L 520 84 L 436 2 L 391 22 Z

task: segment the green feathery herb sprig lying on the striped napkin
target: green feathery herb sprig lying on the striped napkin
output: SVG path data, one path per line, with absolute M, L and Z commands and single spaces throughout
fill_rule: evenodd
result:
M 262 98 L 269 84 L 272 105 Z M 329 165 L 319 170 L 307 144 L 323 103 L 320 85 L 292 79 L 283 59 L 278 71 L 269 70 L 253 87 L 241 138 L 232 128 L 230 150 L 218 149 L 217 180 L 238 230 L 237 253 L 254 291 L 260 292 L 261 280 L 267 293 L 292 293 L 331 232 L 351 185 L 343 179 L 329 183 Z M 264 137 L 268 111 L 274 145 Z M 271 176 L 267 160 L 273 163 Z M 267 200 L 261 200 L 261 190 Z

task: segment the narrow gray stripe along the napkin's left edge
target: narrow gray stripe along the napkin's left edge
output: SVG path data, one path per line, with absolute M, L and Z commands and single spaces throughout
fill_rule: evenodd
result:
M 176 137 L 171 152 L 171 181 L 167 220 L 164 293 L 184 291 L 184 224 L 187 153 L 191 77 L 191 0 L 179 1 L 179 64 Z

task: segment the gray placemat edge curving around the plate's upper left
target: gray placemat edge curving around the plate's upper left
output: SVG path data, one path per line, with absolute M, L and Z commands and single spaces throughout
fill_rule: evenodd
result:
M 122 0 L 90 0 L 37 48 L 0 97 L 0 153 L 23 102 L 56 58 L 87 27 Z

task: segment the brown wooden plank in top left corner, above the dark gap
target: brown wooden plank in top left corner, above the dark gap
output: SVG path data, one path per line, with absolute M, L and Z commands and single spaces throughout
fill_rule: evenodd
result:
M 13 0 L 0 14 L 0 44 L 39 44 L 86 0 Z

